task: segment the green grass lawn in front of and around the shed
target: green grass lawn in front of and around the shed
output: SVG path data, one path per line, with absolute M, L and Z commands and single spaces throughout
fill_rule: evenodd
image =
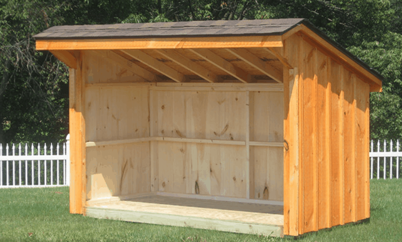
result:
M 192 228 L 94 219 L 69 213 L 69 190 L 0 189 L 0 241 L 291 241 Z M 335 227 L 298 241 L 402 241 L 402 179 L 371 181 L 369 223 Z

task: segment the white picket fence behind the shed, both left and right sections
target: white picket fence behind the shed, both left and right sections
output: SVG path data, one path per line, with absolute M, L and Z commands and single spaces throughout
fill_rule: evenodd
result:
M 62 146 L 57 144 L 53 147 L 53 144 L 50 144 L 49 150 L 46 144 L 42 149 L 40 144 L 37 147 L 31 144 L 30 150 L 28 144 L 19 144 L 18 147 L 9 147 L 7 144 L 5 150 L 0 144 L 0 188 L 70 186 L 69 136 L 67 135 L 67 140 Z M 399 179 L 402 174 L 399 140 L 396 147 L 392 140 L 388 145 L 385 140 L 382 144 L 378 140 L 376 149 L 374 141 L 371 140 L 369 156 L 371 179 Z

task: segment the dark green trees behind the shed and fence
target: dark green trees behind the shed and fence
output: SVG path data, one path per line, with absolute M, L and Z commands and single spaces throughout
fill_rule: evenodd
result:
M 0 143 L 68 133 L 68 69 L 32 36 L 55 25 L 307 18 L 384 76 L 371 138 L 402 137 L 402 1 L 0 0 Z

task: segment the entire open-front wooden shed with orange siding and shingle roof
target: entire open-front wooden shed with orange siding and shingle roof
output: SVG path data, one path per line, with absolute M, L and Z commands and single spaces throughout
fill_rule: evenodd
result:
M 70 212 L 298 236 L 370 217 L 381 76 L 305 19 L 52 27 Z

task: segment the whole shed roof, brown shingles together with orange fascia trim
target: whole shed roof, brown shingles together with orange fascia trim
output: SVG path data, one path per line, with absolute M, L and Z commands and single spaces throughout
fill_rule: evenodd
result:
M 371 76 L 370 79 L 376 79 L 373 81 L 381 90 L 381 80 L 384 78 L 378 72 L 303 18 L 54 26 L 35 35 L 34 38 L 37 40 L 37 49 L 50 51 L 238 48 L 239 43 L 248 47 L 281 47 L 285 34 L 292 35 L 298 31 L 309 32 L 308 36 L 313 35 L 313 39 L 319 40 L 319 44 L 329 46 L 342 60 L 349 59 L 355 62 L 360 72 L 367 72 L 368 77 Z M 197 42 L 208 37 L 212 39 Z M 121 44 L 116 45 L 116 40 Z M 102 41 L 109 42 L 100 44 Z

